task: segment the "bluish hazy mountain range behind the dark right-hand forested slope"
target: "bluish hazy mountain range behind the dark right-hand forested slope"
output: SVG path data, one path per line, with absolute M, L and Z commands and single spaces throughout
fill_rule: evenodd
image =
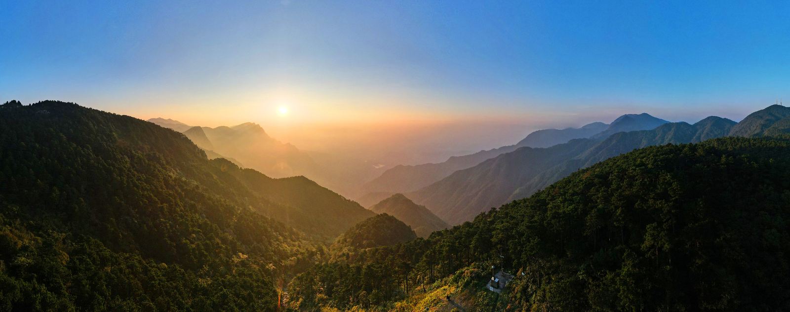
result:
M 711 116 L 690 125 L 666 122 L 647 114 L 623 115 L 604 132 L 549 148 L 517 148 L 474 167 L 407 193 L 451 225 L 507 201 L 529 197 L 579 168 L 649 145 L 705 141 L 714 137 L 760 137 L 790 130 L 790 108 L 773 105 L 741 122 Z M 657 126 L 652 130 L 639 127 Z M 619 131 L 615 130 L 629 130 Z M 638 131 L 634 131 L 638 130 Z

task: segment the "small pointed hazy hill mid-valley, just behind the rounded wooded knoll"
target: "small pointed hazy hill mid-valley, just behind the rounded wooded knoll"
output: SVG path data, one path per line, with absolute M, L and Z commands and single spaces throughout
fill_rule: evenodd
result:
M 428 237 L 434 231 L 441 231 L 450 227 L 445 221 L 439 219 L 425 206 L 417 205 L 403 194 L 394 194 L 371 206 L 376 213 L 386 213 L 408 224 L 419 237 Z

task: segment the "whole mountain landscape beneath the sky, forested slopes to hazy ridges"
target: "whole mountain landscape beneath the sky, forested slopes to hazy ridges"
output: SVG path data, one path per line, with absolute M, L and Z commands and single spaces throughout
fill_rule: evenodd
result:
M 784 310 L 788 121 L 781 105 L 740 122 L 623 115 L 342 179 L 252 123 L 9 101 L 0 303 Z

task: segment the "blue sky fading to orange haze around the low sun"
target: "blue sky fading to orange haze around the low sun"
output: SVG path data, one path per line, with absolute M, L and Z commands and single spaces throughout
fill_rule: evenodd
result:
M 790 101 L 788 12 L 790 2 L 0 0 L 0 101 L 258 122 L 300 148 L 422 148 L 408 161 L 440 160 L 626 113 L 737 121 Z

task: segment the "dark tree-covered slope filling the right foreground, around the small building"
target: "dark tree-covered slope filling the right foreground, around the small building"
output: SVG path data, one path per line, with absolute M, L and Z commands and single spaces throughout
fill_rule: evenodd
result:
M 641 148 L 441 235 L 314 267 L 288 304 L 425 310 L 447 294 L 493 310 L 475 298 L 494 300 L 483 285 L 503 263 L 515 277 L 496 310 L 788 310 L 788 176 L 788 137 Z

